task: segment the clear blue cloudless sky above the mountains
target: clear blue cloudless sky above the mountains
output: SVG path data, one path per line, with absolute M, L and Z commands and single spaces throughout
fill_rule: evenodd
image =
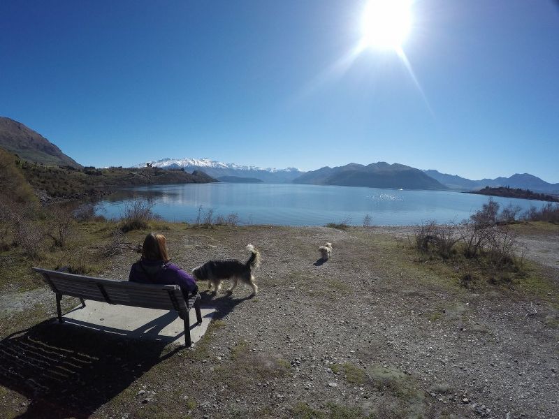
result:
M 84 165 L 403 163 L 559 182 L 559 6 L 417 0 L 341 66 L 365 1 L 0 3 L 0 115 Z M 419 89 L 421 87 L 421 89 Z

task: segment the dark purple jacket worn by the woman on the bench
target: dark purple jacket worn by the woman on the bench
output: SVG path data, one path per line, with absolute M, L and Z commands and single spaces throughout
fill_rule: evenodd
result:
M 130 269 L 129 281 L 141 284 L 178 285 L 188 299 L 188 295 L 198 291 L 196 280 L 174 263 L 163 260 L 139 260 Z

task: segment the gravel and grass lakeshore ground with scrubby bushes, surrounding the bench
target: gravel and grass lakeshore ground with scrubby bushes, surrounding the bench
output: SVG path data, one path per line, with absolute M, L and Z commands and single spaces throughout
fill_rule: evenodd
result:
M 2 209 L 3 418 L 556 414 L 556 223 L 505 223 L 510 209 L 491 200 L 456 226 L 394 228 L 238 226 L 209 211 L 168 223 L 143 202 L 117 221 L 90 206 Z M 152 230 L 187 270 L 245 259 L 255 244 L 259 295 L 240 286 L 212 297 L 201 284 L 217 316 L 191 350 L 52 322 L 55 295 L 31 266 L 126 279 Z M 76 305 L 64 297 L 64 309 Z

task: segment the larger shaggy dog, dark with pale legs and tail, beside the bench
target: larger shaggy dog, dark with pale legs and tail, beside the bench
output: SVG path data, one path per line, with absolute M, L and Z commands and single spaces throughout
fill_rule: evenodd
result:
M 260 265 L 260 252 L 252 245 L 247 246 L 247 250 L 251 253 L 246 262 L 237 259 L 210 260 L 201 266 L 195 267 L 192 274 L 197 281 L 208 281 L 210 290 L 213 287 L 213 295 L 219 293 L 222 288 L 224 279 L 231 279 L 233 285 L 227 290 L 231 293 L 240 280 L 252 287 L 252 295 L 258 293 L 258 286 L 254 284 L 254 276 L 252 270 Z

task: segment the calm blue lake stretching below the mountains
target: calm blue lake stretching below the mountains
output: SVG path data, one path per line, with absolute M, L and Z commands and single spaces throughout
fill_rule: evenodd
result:
M 175 184 L 126 188 L 99 202 L 98 213 L 122 216 L 133 199 L 143 198 L 153 211 L 168 221 L 194 222 L 198 208 L 214 215 L 238 214 L 242 224 L 322 226 L 349 220 L 361 226 L 365 214 L 371 225 L 407 226 L 423 221 L 462 221 L 479 210 L 487 196 L 449 191 L 400 191 L 349 186 L 296 184 Z M 513 204 L 523 210 L 535 200 L 498 198 L 501 208 Z

